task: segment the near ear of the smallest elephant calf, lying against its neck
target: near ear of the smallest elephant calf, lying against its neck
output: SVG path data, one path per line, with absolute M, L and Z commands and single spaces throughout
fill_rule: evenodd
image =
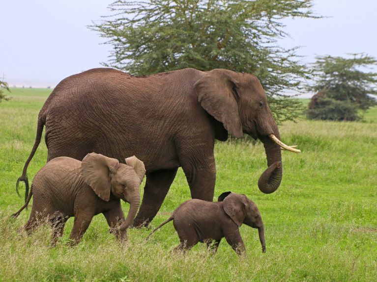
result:
M 231 193 L 223 201 L 225 213 L 232 218 L 234 223 L 241 226 L 246 216 L 246 196 Z

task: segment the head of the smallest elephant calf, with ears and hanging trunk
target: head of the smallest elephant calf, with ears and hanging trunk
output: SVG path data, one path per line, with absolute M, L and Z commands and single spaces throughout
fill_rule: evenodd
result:
M 219 196 L 219 200 L 221 199 L 223 199 L 223 208 L 225 213 L 232 218 L 238 227 L 244 223 L 252 228 L 258 229 L 262 252 L 265 253 L 266 241 L 264 239 L 264 225 L 257 205 L 255 205 L 254 202 L 249 200 L 245 195 L 235 194 L 232 192 L 225 192 L 221 194 Z

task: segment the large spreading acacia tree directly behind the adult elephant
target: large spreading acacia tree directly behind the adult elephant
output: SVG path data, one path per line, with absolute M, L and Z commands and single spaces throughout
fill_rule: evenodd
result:
M 113 66 L 135 75 L 216 68 L 256 75 L 278 121 L 294 120 L 301 103 L 284 96 L 308 78 L 296 48 L 277 44 L 282 19 L 316 16 L 312 0 L 117 0 L 113 16 L 90 29 L 113 45 Z

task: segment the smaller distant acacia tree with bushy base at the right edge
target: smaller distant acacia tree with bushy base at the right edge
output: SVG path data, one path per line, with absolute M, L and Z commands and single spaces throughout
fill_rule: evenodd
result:
M 315 82 L 307 89 L 317 92 L 309 104 L 308 118 L 322 120 L 357 120 L 358 110 L 376 104 L 370 94 L 377 94 L 377 65 L 374 57 L 351 54 L 351 58 L 319 56 L 313 65 Z M 320 94 L 320 95 L 319 95 Z

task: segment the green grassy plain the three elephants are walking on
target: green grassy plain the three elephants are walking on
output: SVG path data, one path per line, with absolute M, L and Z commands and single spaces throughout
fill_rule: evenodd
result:
M 258 205 L 267 252 L 261 253 L 258 231 L 242 226 L 245 257 L 237 257 L 225 240 L 215 256 L 203 244 L 179 255 L 172 253 L 178 244 L 172 223 L 149 241 L 149 229 L 131 229 L 123 246 L 109 234 L 102 215 L 74 248 L 65 244 L 72 219 L 56 248 L 49 248 L 47 226 L 30 236 L 18 231 L 29 210 L 10 218 L 23 205 L 15 182 L 34 142 L 38 111 L 50 92 L 12 89 L 13 99 L 0 103 L 0 281 L 376 281 L 377 108 L 360 123 L 302 120 L 281 126 L 282 141 L 298 144 L 302 154 L 282 153 L 283 181 L 270 195 L 257 187 L 266 166 L 261 143 L 218 142 L 215 197 L 231 190 Z M 46 158 L 41 142 L 29 165 L 29 179 Z M 180 169 L 160 212 L 173 211 L 189 197 Z M 157 215 L 152 226 L 166 218 Z

